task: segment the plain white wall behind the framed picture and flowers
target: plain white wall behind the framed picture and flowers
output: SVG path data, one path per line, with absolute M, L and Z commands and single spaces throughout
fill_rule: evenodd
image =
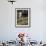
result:
M 16 0 L 12 5 L 0 0 L 0 41 L 14 40 L 19 32 L 29 33 L 33 40 L 46 40 L 46 13 L 43 0 Z M 31 8 L 31 27 L 15 27 L 15 8 Z

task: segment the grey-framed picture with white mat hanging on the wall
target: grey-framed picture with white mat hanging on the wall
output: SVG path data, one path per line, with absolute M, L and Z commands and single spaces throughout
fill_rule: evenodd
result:
M 30 8 L 15 8 L 15 26 L 30 27 L 31 26 L 31 9 Z

